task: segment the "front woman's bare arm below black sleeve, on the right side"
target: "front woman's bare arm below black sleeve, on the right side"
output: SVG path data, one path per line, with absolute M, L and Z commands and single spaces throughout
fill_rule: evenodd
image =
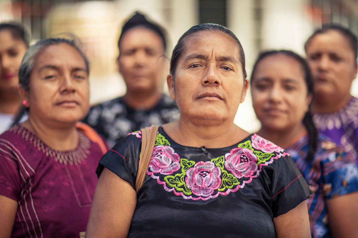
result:
M 310 222 L 306 200 L 291 211 L 274 217 L 277 238 L 310 238 Z

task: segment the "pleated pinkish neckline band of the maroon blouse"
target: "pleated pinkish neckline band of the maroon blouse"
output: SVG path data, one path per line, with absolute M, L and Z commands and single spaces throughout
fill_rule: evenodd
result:
M 89 155 L 89 149 L 91 148 L 91 141 L 81 131 L 78 131 L 78 146 L 74 150 L 70 151 L 58 151 L 46 145 L 42 140 L 35 136 L 32 132 L 27 130 L 21 125 L 15 125 L 10 128 L 9 131 L 20 135 L 26 141 L 31 142 L 34 147 L 39 151 L 42 151 L 46 156 L 50 156 L 55 159 L 56 162 L 64 164 L 80 164 Z

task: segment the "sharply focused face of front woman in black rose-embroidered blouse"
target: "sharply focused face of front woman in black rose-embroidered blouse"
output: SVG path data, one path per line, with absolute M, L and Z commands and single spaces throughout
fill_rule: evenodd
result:
M 233 121 L 248 87 L 239 47 L 220 31 L 199 31 L 185 39 L 175 79 L 168 75 L 167 82 L 181 118 L 214 123 Z

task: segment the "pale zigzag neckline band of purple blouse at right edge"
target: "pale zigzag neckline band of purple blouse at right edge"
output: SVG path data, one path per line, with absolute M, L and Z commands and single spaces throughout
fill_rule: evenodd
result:
M 314 122 L 318 129 L 325 131 L 341 128 L 349 123 L 358 126 L 358 98 L 352 97 L 347 105 L 336 112 L 331 113 L 314 113 Z

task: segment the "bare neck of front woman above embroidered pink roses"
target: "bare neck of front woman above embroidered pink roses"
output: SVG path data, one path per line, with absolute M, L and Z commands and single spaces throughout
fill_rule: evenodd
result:
M 183 119 L 182 116 L 178 121 L 163 125 L 163 129 L 175 142 L 191 147 L 222 148 L 232 146 L 250 135 L 232 121 L 200 125 Z

